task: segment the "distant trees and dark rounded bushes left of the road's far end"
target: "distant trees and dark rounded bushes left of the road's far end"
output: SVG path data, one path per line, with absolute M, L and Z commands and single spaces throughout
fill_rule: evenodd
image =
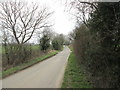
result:
M 53 50 L 62 50 L 63 45 L 69 45 L 69 39 L 63 34 L 52 32 L 50 28 L 44 29 L 42 37 L 39 39 L 41 50 L 44 52 L 52 48 Z

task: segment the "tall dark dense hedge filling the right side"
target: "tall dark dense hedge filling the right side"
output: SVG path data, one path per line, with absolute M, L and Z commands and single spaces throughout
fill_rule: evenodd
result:
M 95 87 L 120 88 L 120 2 L 98 3 L 88 26 L 75 30 L 74 49 Z

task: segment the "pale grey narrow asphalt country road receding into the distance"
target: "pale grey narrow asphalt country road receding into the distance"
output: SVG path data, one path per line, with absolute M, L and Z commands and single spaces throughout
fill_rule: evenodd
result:
M 2 88 L 60 88 L 70 49 L 2 80 Z

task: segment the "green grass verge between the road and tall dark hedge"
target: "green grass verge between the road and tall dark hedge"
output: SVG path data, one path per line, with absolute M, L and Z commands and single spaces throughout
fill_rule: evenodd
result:
M 73 52 L 69 56 L 61 88 L 92 88 L 87 80 L 87 76 L 80 70 Z

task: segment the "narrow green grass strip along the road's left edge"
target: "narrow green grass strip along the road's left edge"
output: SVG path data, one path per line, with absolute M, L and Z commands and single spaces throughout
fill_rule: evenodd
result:
M 45 60 L 45 59 L 47 59 L 47 58 L 49 58 L 51 56 L 54 56 L 57 53 L 58 53 L 58 51 L 49 52 L 47 55 L 43 55 L 43 56 L 41 56 L 39 58 L 30 60 L 27 63 L 21 64 L 19 66 L 16 66 L 16 67 L 10 68 L 10 69 L 8 69 L 6 71 L 3 71 L 2 74 L 0 73 L 0 75 L 2 75 L 1 77 L 4 78 L 4 77 L 9 76 L 9 75 L 11 75 L 11 74 L 13 74 L 15 72 L 18 72 L 18 71 L 23 70 L 23 69 L 25 69 L 27 67 L 30 67 L 30 66 L 32 66 L 32 65 L 34 65 L 34 64 L 36 64 L 36 63 L 38 63 L 40 61 L 43 61 L 43 60 Z

